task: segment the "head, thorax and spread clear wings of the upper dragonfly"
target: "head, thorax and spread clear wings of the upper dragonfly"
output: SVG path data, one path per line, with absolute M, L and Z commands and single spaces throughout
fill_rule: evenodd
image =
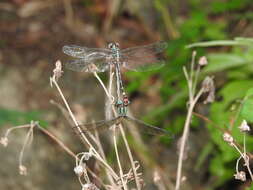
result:
M 160 68 L 165 61 L 162 53 L 167 48 L 166 42 L 120 49 L 118 43 L 110 43 L 108 48 L 88 48 L 66 45 L 63 52 L 75 60 L 70 61 L 66 68 L 78 72 L 105 72 L 110 65 L 132 71 L 149 71 Z

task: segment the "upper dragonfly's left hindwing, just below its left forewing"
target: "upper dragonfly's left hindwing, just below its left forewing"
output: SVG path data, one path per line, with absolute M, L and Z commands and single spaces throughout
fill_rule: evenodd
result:
M 66 68 L 77 72 L 105 72 L 109 65 L 105 57 L 92 60 L 76 59 L 68 61 Z

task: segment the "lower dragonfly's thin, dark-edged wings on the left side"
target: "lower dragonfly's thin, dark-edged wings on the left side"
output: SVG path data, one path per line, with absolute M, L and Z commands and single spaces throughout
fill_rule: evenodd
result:
M 116 117 L 111 120 L 101 120 L 97 122 L 91 122 L 91 123 L 85 123 L 80 124 L 78 126 L 74 126 L 74 130 L 76 130 L 77 127 L 80 127 L 82 132 L 81 133 L 87 133 L 88 131 L 94 131 L 97 130 L 103 131 L 106 129 L 109 129 L 114 124 L 119 124 L 121 122 L 122 117 Z

